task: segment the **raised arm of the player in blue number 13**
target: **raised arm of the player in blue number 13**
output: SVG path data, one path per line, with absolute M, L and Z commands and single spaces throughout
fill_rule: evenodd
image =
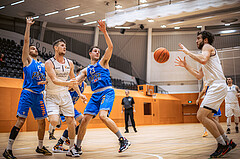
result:
M 109 68 L 108 62 L 112 57 L 113 43 L 107 33 L 105 22 L 103 22 L 102 20 L 98 20 L 98 24 L 99 24 L 98 28 L 99 28 L 99 30 L 101 30 L 103 32 L 107 46 L 108 46 L 108 48 L 105 51 L 105 54 L 103 55 L 103 57 L 100 61 L 100 64 L 102 66 Z

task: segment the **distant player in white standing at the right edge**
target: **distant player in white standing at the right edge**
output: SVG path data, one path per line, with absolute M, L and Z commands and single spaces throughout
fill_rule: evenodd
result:
M 227 134 L 231 133 L 231 118 L 234 115 L 234 122 L 236 124 L 236 133 L 238 130 L 238 123 L 240 117 L 240 108 L 238 103 L 238 98 L 240 96 L 240 90 L 237 85 L 232 83 L 232 78 L 227 78 L 227 96 L 225 98 L 225 115 L 227 117 Z

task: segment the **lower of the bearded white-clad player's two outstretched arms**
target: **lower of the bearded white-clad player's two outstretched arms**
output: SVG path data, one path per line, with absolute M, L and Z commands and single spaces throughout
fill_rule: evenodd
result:
M 199 71 L 197 71 L 196 69 L 189 66 L 186 62 L 186 56 L 184 57 L 183 60 L 178 56 L 178 58 L 174 61 L 174 63 L 175 63 L 175 66 L 184 67 L 188 72 L 190 72 L 198 80 L 203 78 L 202 67 L 199 69 Z

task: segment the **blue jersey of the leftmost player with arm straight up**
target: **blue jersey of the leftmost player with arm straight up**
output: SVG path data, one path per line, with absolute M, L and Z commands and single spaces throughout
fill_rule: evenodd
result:
M 45 85 L 38 85 L 38 82 L 46 80 L 45 66 L 42 62 L 32 59 L 30 65 L 23 67 L 23 72 L 23 88 L 31 89 L 36 93 L 41 93 L 45 89 Z

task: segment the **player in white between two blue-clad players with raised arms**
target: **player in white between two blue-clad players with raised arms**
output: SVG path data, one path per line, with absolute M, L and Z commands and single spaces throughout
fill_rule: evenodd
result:
M 47 71 L 46 84 L 46 106 L 50 123 L 56 127 L 59 123 L 59 114 L 63 114 L 68 125 L 68 132 L 70 138 L 69 151 L 67 156 L 78 157 L 75 146 L 75 120 L 74 120 L 74 106 L 71 96 L 68 92 L 68 87 L 73 87 L 79 94 L 82 100 L 86 97 L 81 94 L 78 88 L 78 82 L 74 75 L 73 62 L 66 59 L 66 42 L 64 39 L 58 39 L 53 43 L 55 55 L 45 63 Z M 68 76 L 70 81 L 67 81 Z

